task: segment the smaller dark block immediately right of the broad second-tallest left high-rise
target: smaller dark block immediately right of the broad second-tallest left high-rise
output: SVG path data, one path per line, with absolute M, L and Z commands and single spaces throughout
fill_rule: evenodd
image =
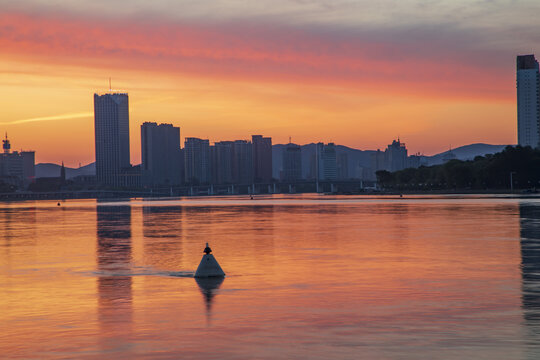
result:
M 185 180 L 189 184 L 210 182 L 210 142 L 198 138 L 184 141 Z

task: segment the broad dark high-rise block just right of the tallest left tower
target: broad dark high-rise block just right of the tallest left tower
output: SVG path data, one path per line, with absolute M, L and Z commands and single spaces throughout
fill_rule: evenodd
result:
M 141 125 L 141 175 L 143 185 L 182 183 L 180 128 L 145 122 Z

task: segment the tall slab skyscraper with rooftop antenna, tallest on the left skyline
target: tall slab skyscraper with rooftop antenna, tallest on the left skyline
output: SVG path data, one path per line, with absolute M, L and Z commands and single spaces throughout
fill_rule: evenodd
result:
M 102 185 L 123 186 L 129 163 L 128 94 L 94 94 L 96 178 Z

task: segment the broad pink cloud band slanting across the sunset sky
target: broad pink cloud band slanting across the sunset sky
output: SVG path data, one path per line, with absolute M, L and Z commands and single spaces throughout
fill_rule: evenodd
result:
M 337 29 L 0 14 L 4 54 L 91 67 L 511 99 L 513 56 L 449 29 Z

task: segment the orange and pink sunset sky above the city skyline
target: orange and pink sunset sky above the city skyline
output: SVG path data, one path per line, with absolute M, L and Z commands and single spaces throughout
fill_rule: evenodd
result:
M 36 162 L 94 161 L 93 94 L 140 125 L 426 155 L 515 144 L 515 57 L 536 0 L 0 0 L 0 132 Z M 182 140 L 183 141 L 183 140 Z

